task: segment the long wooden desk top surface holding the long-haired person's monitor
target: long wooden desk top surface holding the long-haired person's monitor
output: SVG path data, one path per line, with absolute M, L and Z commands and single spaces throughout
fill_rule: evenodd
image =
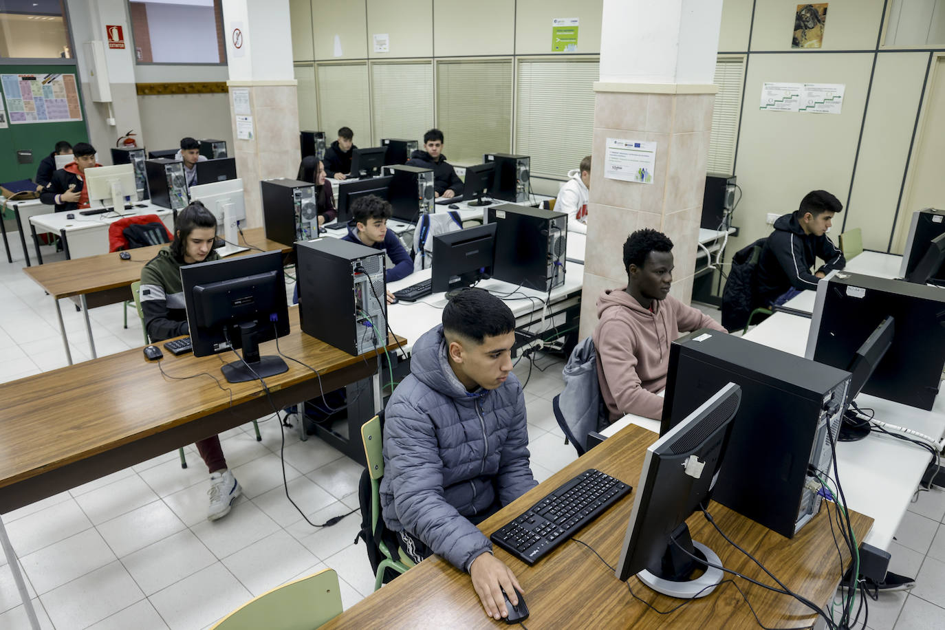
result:
M 289 325 L 291 332 L 279 340 L 279 349 L 318 369 L 326 382 L 335 370 L 367 363 L 367 356 L 374 359 L 373 354 L 354 357 L 302 333 L 298 308 L 289 309 Z M 391 337 L 387 349 L 396 348 Z M 277 354 L 276 342 L 261 344 L 260 352 Z M 232 390 L 232 407 L 257 399 L 265 402 L 266 393 L 258 381 L 227 383 L 223 378 L 220 366 L 235 359 L 232 352 L 200 358 L 164 352 L 161 364 L 171 376 L 212 374 L 221 386 Z M 285 363 L 287 372 L 266 378 L 273 397 L 282 389 L 317 378 L 307 367 Z M 167 378 L 140 348 L 3 383 L 0 489 L 196 418 L 226 412 L 230 406 L 229 392 L 221 391 L 210 377 Z M 50 417 L 55 421 L 41 419 Z

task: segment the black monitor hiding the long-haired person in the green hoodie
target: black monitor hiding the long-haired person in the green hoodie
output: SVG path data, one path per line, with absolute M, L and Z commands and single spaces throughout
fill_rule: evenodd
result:
M 259 344 L 289 333 L 283 255 L 279 251 L 180 267 L 194 356 L 243 349 L 222 366 L 230 383 L 281 374 L 281 357 L 260 356 Z

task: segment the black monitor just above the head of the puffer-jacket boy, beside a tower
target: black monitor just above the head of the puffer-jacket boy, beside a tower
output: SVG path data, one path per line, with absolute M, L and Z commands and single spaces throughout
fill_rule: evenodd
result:
M 496 225 L 489 223 L 433 237 L 433 292 L 452 291 L 492 276 Z

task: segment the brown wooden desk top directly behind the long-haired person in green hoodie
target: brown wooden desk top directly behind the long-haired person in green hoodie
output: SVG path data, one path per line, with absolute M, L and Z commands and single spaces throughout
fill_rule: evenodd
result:
M 240 238 L 240 245 L 249 247 L 251 244 L 252 247 L 259 247 L 265 251 L 276 249 L 283 253 L 292 251 L 291 245 L 283 245 L 266 239 L 264 228 L 250 228 L 243 231 L 247 240 Z M 165 245 L 129 249 L 131 254 L 131 260 L 129 261 L 121 260 L 117 252 L 111 252 L 71 261 L 24 267 L 23 271 L 53 298 L 69 298 L 70 296 L 80 296 L 96 291 L 130 286 L 131 282 L 141 280 L 142 267 L 157 256 L 162 247 L 165 247 Z M 249 251 L 233 255 L 240 256 L 255 251 L 255 249 L 249 249 Z

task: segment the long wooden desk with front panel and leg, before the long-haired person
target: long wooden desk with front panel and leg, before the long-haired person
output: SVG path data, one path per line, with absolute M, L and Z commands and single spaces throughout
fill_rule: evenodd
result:
M 377 381 L 374 352 L 355 357 L 302 333 L 298 308 L 289 309 L 289 327 L 279 349 L 318 369 L 321 381 L 307 367 L 286 361 L 287 372 L 266 377 L 271 400 L 257 381 L 226 382 L 220 366 L 236 359 L 232 352 L 200 358 L 165 352 L 161 360 L 172 376 L 213 374 L 232 390 L 232 402 L 209 377 L 165 378 L 140 348 L 0 384 L 0 514 L 267 416 L 273 409 L 371 375 Z M 388 337 L 387 350 L 396 347 L 396 340 Z M 276 354 L 276 342 L 261 344 L 260 352 Z M 55 417 L 55 425 L 38 417 Z M 0 538 L 29 608 L 2 519 Z

